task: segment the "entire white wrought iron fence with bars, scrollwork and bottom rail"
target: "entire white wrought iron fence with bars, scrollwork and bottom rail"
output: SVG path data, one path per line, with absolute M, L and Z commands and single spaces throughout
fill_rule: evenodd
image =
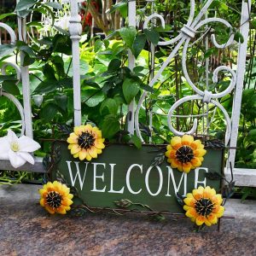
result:
M 235 156 L 236 156 L 236 143 L 238 137 L 238 126 L 239 126 L 239 118 L 241 112 L 241 96 L 242 96 L 242 88 L 243 88 L 243 79 L 245 73 L 245 64 L 246 64 L 246 55 L 247 55 L 247 38 L 248 38 L 248 30 L 249 30 L 249 17 L 250 17 L 250 9 L 251 9 L 251 1 L 250 0 L 243 0 L 241 1 L 241 26 L 240 26 L 240 33 L 241 36 L 244 38 L 243 42 L 239 44 L 238 47 L 238 58 L 237 58 L 237 65 L 236 71 L 227 66 L 220 66 L 215 68 L 213 71 L 212 80 L 214 83 L 218 82 L 218 74 L 224 73 L 225 76 L 230 76 L 230 84 L 229 86 L 221 92 L 214 91 L 212 92 L 209 89 L 209 61 L 206 60 L 206 86 L 204 90 L 199 88 L 197 84 L 195 84 L 192 79 L 189 77 L 189 72 L 187 70 L 187 53 L 188 49 L 191 44 L 195 44 L 194 40 L 195 36 L 199 33 L 202 27 L 204 27 L 204 31 L 202 33 L 202 37 L 206 41 L 206 49 L 209 48 L 209 42 L 217 48 L 217 49 L 225 49 L 229 47 L 231 44 L 234 43 L 234 33 L 231 31 L 231 24 L 224 19 L 218 17 L 208 17 L 207 12 L 209 6 L 212 4 L 213 0 L 205 1 L 203 8 L 199 12 L 199 14 L 195 15 L 195 0 L 190 0 L 190 13 L 189 13 L 189 20 L 186 24 L 183 25 L 181 31 L 178 33 L 177 37 L 172 38 L 170 40 L 164 41 L 161 40 L 158 45 L 165 46 L 171 45 L 172 52 L 170 55 L 167 56 L 166 61 L 164 61 L 157 73 L 150 74 L 150 82 L 149 86 L 153 87 L 155 83 L 157 83 L 158 79 L 160 79 L 161 74 L 165 70 L 165 68 L 169 65 L 170 61 L 177 55 L 179 50 L 182 51 L 182 68 L 183 68 L 183 77 L 186 79 L 188 84 L 194 90 L 195 94 L 191 96 L 184 96 L 183 98 L 179 99 L 172 105 L 170 108 L 169 113 L 167 114 L 168 119 L 168 126 L 170 131 L 172 131 L 176 135 L 183 135 L 187 134 L 195 134 L 197 126 L 199 124 L 198 117 L 202 117 L 201 121 L 203 122 L 203 131 L 207 133 L 208 128 L 212 125 L 212 119 L 208 118 L 209 115 L 209 105 L 213 106 L 213 108 L 218 108 L 223 114 L 224 119 L 226 122 L 226 132 L 225 132 L 225 145 L 230 148 L 227 166 L 226 166 L 226 174 L 230 176 L 230 166 L 234 169 L 235 163 Z M 80 94 L 80 73 L 79 73 L 79 40 L 81 38 L 82 33 L 82 26 L 81 26 L 81 17 L 79 15 L 79 3 L 81 1 L 78 0 L 69 0 L 64 1 L 65 3 L 70 3 L 70 20 L 69 20 L 69 32 L 70 38 L 72 40 L 72 51 L 73 51 L 73 112 L 74 112 L 74 125 L 81 124 L 81 94 Z M 152 1 L 150 1 L 152 2 Z M 62 1 L 63 3 L 63 1 Z M 128 20 L 129 26 L 137 26 L 137 3 L 136 1 L 128 1 Z M 165 20 L 159 14 L 154 13 L 154 1 L 152 3 L 152 15 L 149 15 L 146 20 L 144 20 L 143 28 L 147 28 L 150 24 L 154 26 L 156 20 L 160 20 L 161 26 L 165 27 Z M 224 44 L 218 44 L 216 36 L 212 33 L 211 37 L 209 38 L 206 36 L 206 32 L 208 28 L 211 26 L 212 23 L 218 22 L 230 28 L 230 38 Z M 15 44 L 16 42 L 16 35 L 13 29 L 6 24 L 0 23 L 0 27 L 7 32 L 9 32 L 9 36 L 11 38 L 10 44 Z M 18 17 L 18 32 L 19 32 L 19 40 L 25 41 L 27 39 L 26 33 L 26 19 Z M 152 66 L 154 66 L 154 50 L 155 46 L 151 44 L 151 55 L 153 56 Z M 20 54 L 20 61 L 22 61 L 24 55 Z M 131 50 L 129 50 L 128 56 L 129 65 L 128 67 L 132 70 L 133 67 L 136 65 L 135 57 L 132 55 Z M 28 137 L 33 137 L 32 132 L 32 108 L 31 108 L 31 95 L 30 95 L 30 82 L 29 82 L 29 70 L 28 67 L 18 67 L 13 63 L 5 63 L 1 67 L 1 72 L 4 74 L 6 67 L 11 65 L 15 68 L 17 73 L 17 79 L 22 81 L 22 92 L 23 92 L 23 106 L 20 102 L 12 96 L 11 94 L 4 92 L 1 89 L 0 96 L 8 97 L 12 102 L 15 103 L 15 106 L 19 109 L 21 122 L 22 122 L 22 129 L 21 134 L 26 134 Z M 231 116 L 225 108 L 218 102 L 219 98 L 222 98 L 230 92 L 234 92 L 234 102 Z M 143 141 L 143 137 L 141 135 L 141 131 L 139 129 L 139 113 L 141 109 L 143 109 L 143 104 L 145 99 L 147 99 L 148 91 L 144 91 L 143 95 L 141 96 L 139 102 L 136 105 L 136 102 L 131 102 L 128 112 L 130 117 L 128 119 L 128 131 L 131 134 L 137 133 L 137 136 L 141 138 Z M 181 106 L 184 102 L 193 102 L 193 101 L 201 101 L 203 103 L 203 113 L 200 115 L 180 115 L 176 114 L 176 109 Z M 149 113 L 149 126 L 152 128 L 152 116 L 156 114 L 153 111 Z M 193 126 L 190 131 L 177 131 L 177 129 L 173 126 L 173 118 L 192 118 Z M 0 170 L 14 170 L 12 166 L 9 165 L 9 162 L 6 160 L 0 161 Z M 35 166 L 31 166 L 29 164 L 22 166 L 22 168 L 18 170 L 30 171 L 30 172 L 44 172 L 44 167 L 42 164 L 41 159 L 36 160 Z M 234 175 L 236 179 L 237 185 L 246 185 L 246 186 L 256 186 L 256 175 L 255 170 L 248 170 L 248 169 L 234 169 Z

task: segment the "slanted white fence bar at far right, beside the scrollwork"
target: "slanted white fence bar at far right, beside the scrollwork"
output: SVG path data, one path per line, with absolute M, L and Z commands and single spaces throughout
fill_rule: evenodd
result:
M 241 113 L 241 96 L 243 89 L 243 79 L 246 68 L 246 57 L 247 57 L 247 41 L 249 32 L 249 17 L 251 10 L 251 1 L 246 3 L 242 1 L 241 7 L 241 28 L 240 32 L 244 38 L 244 42 L 240 44 L 238 50 L 238 60 L 237 60 L 237 72 L 236 72 L 236 91 L 233 102 L 232 109 L 232 126 L 231 126 L 231 137 L 230 137 L 230 155 L 227 161 L 227 168 L 230 169 L 230 163 L 234 169 L 235 158 L 236 158 L 236 143 L 238 137 L 238 126 Z

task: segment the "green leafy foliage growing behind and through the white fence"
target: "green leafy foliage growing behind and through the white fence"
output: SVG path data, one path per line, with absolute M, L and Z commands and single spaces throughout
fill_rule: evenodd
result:
M 127 16 L 127 1 L 120 1 L 109 9 L 109 14 L 120 11 L 122 16 Z M 230 4 L 230 3 L 229 3 Z M 195 15 L 201 10 L 201 3 L 195 5 Z M 61 10 L 61 5 L 56 2 L 42 3 L 34 0 L 20 0 L 15 12 L 25 17 L 29 13 L 38 12 L 51 17 L 52 25 L 55 23 L 55 9 Z M 213 1 L 209 16 L 218 15 L 224 17 L 236 29 L 230 31 L 219 22 L 211 24 L 211 30 L 207 32 L 208 38 L 215 33 L 218 44 L 224 44 L 235 34 L 236 42 L 243 42 L 239 32 L 240 4 L 233 1 L 232 9 L 221 1 Z M 237 10 L 236 11 L 234 11 Z M 81 98 L 83 122 L 94 123 L 102 130 L 103 137 L 110 142 L 130 142 L 137 148 L 141 147 L 137 136 L 127 132 L 128 105 L 133 100 L 137 103 L 143 91 L 148 91 L 147 101 L 143 110 L 139 113 L 140 126 L 145 142 L 166 143 L 170 141 L 172 132 L 167 124 L 167 113 L 177 99 L 189 96 L 193 93 L 189 84 L 183 77 L 181 55 L 172 59 L 170 64 L 160 76 L 160 79 L 149 87 L 152 74 L 157 73 L 160 65 L 166 61 L 172 51 L 172 46 L 157 46 L 160 40 L 174 38 L 180 32 L 183 24 L 189 17 L 189 1 L 155 1 L 156 13 L 165 15 L 166 27 L 160 26 L 158 19 L 154 24 L 148 23 L 148 28 L 143 29 L 143 20 L 151 14 L 151 3 L 138 3 L 137 29 L 132 26 L 124 26 L 112 36 L 101 39 L 98 36 L 91 40 L 80 42 L 80 73 L 81 73 Z M 167 15 L 168 14 L 168 15 Z M 1 19 L 13 18 L 14 13 L 0 15 Z M 255 36 L 254 10 L 251 18 L 251 37 Z M 40 22 L 32 20 L 27 26 L 42 26 Z M 196 39 L 204 35 L 207 27 L 201 27 Z M 57 128 L 59 125 L 73 126 L 73 72 L 72 72 L 72 43 L 67 32 L 60 30 L 49 33 L 51 36 L 36 40 L 30 44 L 18 41 L 15 45 L 0 45 L 0 63 L 10 55 L 20 52 L 25 55 L 23 66 L 29 65 L 30 82 L 32 91 L 33 130 L 35 138 L 62 137 Z M 205 37 L 206 35 L 204 35 Z M 112 38 L 111 38 L 112 37 Z M 89 37 L 88 37 L 89 38 Z M 160 39 L 161 38 L 161 39 Z M 216 61 L 216 65 L 228 65 L 233 67 L 236 63 L 236 45 L 226 51 L 216 49 L 209 40 L 209 49 L 201 41 L 194 41 L 187 52 L 187 68 L 189 77 L 198 88 L 205 90 L 206 59 Z M 154 67 L 150 47 L 155 46 Z M 241 104 L 241 123 L 239 128 L 238 150 L 236 154 L 236 166 L 256 168 L 256 57 L 255 41 L 249 42 L 250 60 L 247 61 L 247 75 Z M 254 51 L 253 51 L 254 49 Z M 128 68 L 128 51 L 136 57 L 136 67 Z M 13 58 L 15 59 L 15 58 Z M 223 91 L 230 83 L 224 73 L 219 75 L 218 83 L 212 83 L 212 67 L 209 74 L 209 90 Z M 15 95 L 22 102 L 21 86 L 17 84 L 14 68 L 9 67 L 6 75 L 0 75 L 0 83 L 3 90 Z M 220 103 L 231 114 L 233 95 L 226 96 Z M 185 103 L 178 109 L 179 114 L 199 114 L 203 105 L 201 102 Z M 150 112 L 153 112 L 153 127 L 149 127 Z M 157 114 L 156 114 L 157 113 Z M 12 117 L 11 119 L 9 117 Z M 223 138 L 225 131 L 224 116 L 209 105 L 209 119 L 212 126 L 208 129 L 212 137 Z M 0 101 L 0 136 L 3 136 L 9 128 L 20 131 L 20 115 L 14 104 L 5 97 Z M 193 119 L 172 119 L 177 129 L 189 131 Z M 203 132 L 201 125 L 199 134 Z M 150 138 L 150 139 L 149 139 Z M 42 150 L 37 154 L 44 154 L 49 150 L 49 143 L 42 143 Z M 160 160 L 162 155 L 160 155 Z

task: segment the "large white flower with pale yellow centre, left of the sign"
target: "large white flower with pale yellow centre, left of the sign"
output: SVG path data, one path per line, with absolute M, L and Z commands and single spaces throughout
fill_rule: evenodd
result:
M 40 148 L 39 143 L 30 137 L 17 137 L 14 131 L 9 130 L 8 135 L 0 137 L 0 160 L 9 160 L 15 168 L 23 166 L 26 162 L 35 163 L 29 154 Z

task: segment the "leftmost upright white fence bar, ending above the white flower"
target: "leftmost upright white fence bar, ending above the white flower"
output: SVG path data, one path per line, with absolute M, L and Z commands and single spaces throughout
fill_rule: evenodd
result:
M 17 0 L 19 3 L 19 0 Z M 26 18 L 18 16 L 18 33 L 19 40 L 26 43 Z M 25 55 L 20 53 L 20 62 L 22 63 Z M 31 108 L 31 94 L 30 94 L 30 81 L 29 81 L 29 70 L 28 67 L 20 65 L 21 81 L 22 81 L 22 93 L 23 93 L 23 108 L 24 108 L 24 119 L 26 130 L 25 134 L 27 137 L 33 137 L 32 130 L 32 108 Z

